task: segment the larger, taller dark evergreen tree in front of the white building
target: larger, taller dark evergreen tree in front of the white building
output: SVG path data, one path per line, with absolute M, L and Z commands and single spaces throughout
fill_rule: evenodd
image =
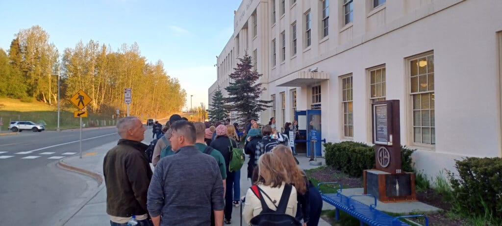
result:
M 226 107 L 230 111 L 237 112 L 239 117 L 237 121 L 247 122 L 251 119 L 258 119 L 260 112 L 271 107 L 271 100 L 262 100 L 260 95 L 265 88 L 262 88 L 262 83 L 258 82 L 262 74 L 253 70 L 252 58 L 244 54 L 242 58 L 238 58 L 237 68 L 230 74 L 230 78 L 234 82 L 225 87 L 228 92 L 228 97 L 224 98 L 227 103 Z

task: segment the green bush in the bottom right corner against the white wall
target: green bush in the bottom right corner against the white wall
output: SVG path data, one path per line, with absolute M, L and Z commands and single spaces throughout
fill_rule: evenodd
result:
M 458 175 L 447 171 L 455 209 L 502 223 L 502 159 L 469 157 L 456 160 L 455 168 Z

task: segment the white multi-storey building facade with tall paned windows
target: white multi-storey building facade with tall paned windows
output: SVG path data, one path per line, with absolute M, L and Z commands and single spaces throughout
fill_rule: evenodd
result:
M 371 103 L 397 99 L 401 143 L 429 177 L 501 157 L 500 12 L 499 0 L 243 0 L 209 103 L 247 52 L 274 100 L 262 124 L 320 109 L 327 142 L 371 144 Z

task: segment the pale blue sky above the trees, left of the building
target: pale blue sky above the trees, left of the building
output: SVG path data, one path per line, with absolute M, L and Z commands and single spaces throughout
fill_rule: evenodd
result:
M 61 54 L 82 40 L 110 45 L 137 42 L 148 62 L 164 62 L 193 106 L 207 107 L 216 81 L 216 56 L 233 33 L 240 0 L 0 0 L 0 48 L 9 49 L 21 29 L 40 25 Z M 134 99 L 134 96 L 133 96 Z M 184 108 L 185 109 L 185 108 Z

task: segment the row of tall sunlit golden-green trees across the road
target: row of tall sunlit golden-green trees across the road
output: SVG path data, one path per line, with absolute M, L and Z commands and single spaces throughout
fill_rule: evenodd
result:
M 98 41 L 80 41 L 60 55 L 36 25 L 20 30 L 8 52 L 0 48 L 0 97 L 56 104 L 58 74 L 62 104 L 82 89 L 93 99 L 87 110 L 95 114 L 124 111 L 124 88 L 132 88 L 131 115 L 168 115 L 186 102 L 178 79 L 167 75 L 161 60 L 147 62 L 137 43 L 113 51 Z

